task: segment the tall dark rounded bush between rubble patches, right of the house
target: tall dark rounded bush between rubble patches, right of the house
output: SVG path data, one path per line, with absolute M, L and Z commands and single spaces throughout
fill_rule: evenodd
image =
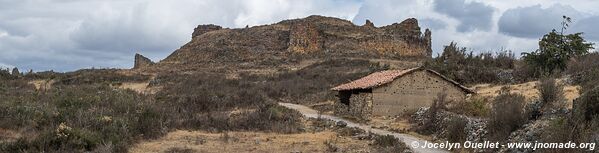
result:
M 487 126 L 491 140 L 506 140 L 511 132 L 526 122 L 524 103 L 524 96 L 512 94 L 507 89 L 495 97 Z

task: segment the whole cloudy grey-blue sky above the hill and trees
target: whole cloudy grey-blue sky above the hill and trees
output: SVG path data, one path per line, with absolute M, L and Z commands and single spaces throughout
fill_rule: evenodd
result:
M 242 28 L 309 15 L 376 26 L 417 18 L 432 31 L 433 54 L 456 42 L 474 52 L 534 51 L 573 23 L 599 42 L 596 0 L 0 0 L 0 67 L 21 71 L 131 68 L 135 53 L 160 61 L 199 24 Z

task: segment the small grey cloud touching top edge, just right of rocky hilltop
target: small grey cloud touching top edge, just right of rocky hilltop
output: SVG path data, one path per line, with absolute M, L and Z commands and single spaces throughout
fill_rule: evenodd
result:
M 457 31 L 489 31 L 492 28 L 494 7 L 480 2 L 466 3 L 464 0 L 435 0 L 435 11 L 460 21 Z

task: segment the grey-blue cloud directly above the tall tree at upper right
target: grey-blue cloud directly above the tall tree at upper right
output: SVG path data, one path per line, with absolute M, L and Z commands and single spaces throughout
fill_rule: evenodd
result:
M 540 38 L 552 29 L 560 29 L 562 16 L 574 19 L 582 14 L 568 5 L 541 5 L 518 7 L 506 10 L 498 21 L 499 32 L 520 38 Z

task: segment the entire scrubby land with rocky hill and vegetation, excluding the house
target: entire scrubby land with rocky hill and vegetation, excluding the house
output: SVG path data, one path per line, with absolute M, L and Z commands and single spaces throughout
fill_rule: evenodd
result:
M 136 54 L 132 69 L 0 69 L 0 152 L 411 152 L 419 149 L 404 141 L 599 142 L 598 53 L 541 73 L 512 52 L 467 53 L 455 43 L 433 58 L 431 31 L 422 31 L 416 19 L 375 27 L 323 16 L 238 29 L 199 25 L 161 61 Z M 417 66 L 477 93 L 456 101 L 439 94 L 398 116 L 332 114 L 332 87 Z M 316 119 L 282 103 L 312 107 Z M 531 152 L 456 152 L 518 151 Z M 566 151 L 589 150 L 556 152 Z

